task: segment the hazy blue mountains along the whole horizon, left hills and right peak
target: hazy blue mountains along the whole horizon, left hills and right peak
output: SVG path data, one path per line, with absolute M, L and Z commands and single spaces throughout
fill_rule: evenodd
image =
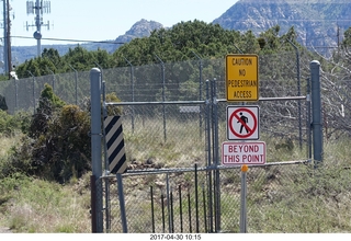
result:
M 251 30 L 257 35 L 275 25 L 280 25 L 281 34 L 294 26 L 297 41 L 302 45 L 308 48 L 329 49 L 341 43 L 343 32 L 351 26 L 351 1 L 239 0 L 212 23 L 227 30 L 240 32 Z M 125 34 L 110 42 L 128 43 L 136 37 L 149 36 L 151 31 L 161 27 L 163 27 L 161 23 L 141 19 Z M 56 48 L 64 55 L 77 45 L 43 45 L 42 48 Z M 88 50 L 101 48 L 113 53 L 121 44 L 84 43 L 81 46 Z M 12 46 L 12 56 L 15 65 L 22 64 L 26 59 L 36 57 L 36 46 Z

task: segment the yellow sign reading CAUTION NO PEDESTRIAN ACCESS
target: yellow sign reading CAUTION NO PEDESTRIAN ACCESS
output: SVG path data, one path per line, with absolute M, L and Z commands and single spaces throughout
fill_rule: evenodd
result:
M 257 55 L 226 56 L 227 101 L 259 100 L 259 57 Z

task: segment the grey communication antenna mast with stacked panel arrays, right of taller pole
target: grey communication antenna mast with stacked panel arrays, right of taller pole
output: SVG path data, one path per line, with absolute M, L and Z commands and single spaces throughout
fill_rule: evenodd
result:
M 42 26 L 46 26 L 47 30 L 50 28 L 49 21 L 47 23 L 43 22 L 43 14 L 44 13 L 50 13 L 50 2 L 49 1 L 43 1 L 43 0 L 36 0 L 33 1 L 26 1 L 26 14 L 35 14 L 35 24 L 29 24 L 26 22 L 26 31 L 29 31 L 30 26 L 36 26 L 36 31 L 33 34 L 33 37 L 36 39 L 37 43 L 37 56 L 41 56 L 42 53 L 42 46 L 41 46 L 41 39 L 42 39 Z

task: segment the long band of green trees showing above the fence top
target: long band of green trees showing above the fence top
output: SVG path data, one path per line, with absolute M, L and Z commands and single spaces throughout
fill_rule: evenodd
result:
M 343 45 L 349 45 L 350 30 L 346 31 Z M 57 49 L 44 48 L 41 57 L 26 60 L 18 66 L 19 79 L 54 73 L 87 71 L 92 67 L 103 69 L 143 66 L 163 62 L 183 61 L 201 57 L 223 58 L 226 54 L 272 54 L 303 48 L 296 41 L 297 33 L 292 26 L 286 33 L 275 25 L 258 37 L 251 31 L 238 32 L 225 30 L 218 24 L 206 24 L 202 21 L 181 22 L 172 28 L 152 31 L 149 37 L 134 38 L 113 54 L 106 50 L 87 50 L 82 46 L 69 48 L 60 56 Z M 292 44 L 291 44 L 291 43 Z

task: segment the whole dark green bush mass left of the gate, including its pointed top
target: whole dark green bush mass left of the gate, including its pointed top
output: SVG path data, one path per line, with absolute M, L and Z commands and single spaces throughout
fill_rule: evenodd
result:
M 66 105 L 45 84 L 27 136 L 14 147 L 5 175 L 23 172 L 60 183 L 80 177 L 90 167 L 90 118 L 76 105 Z

